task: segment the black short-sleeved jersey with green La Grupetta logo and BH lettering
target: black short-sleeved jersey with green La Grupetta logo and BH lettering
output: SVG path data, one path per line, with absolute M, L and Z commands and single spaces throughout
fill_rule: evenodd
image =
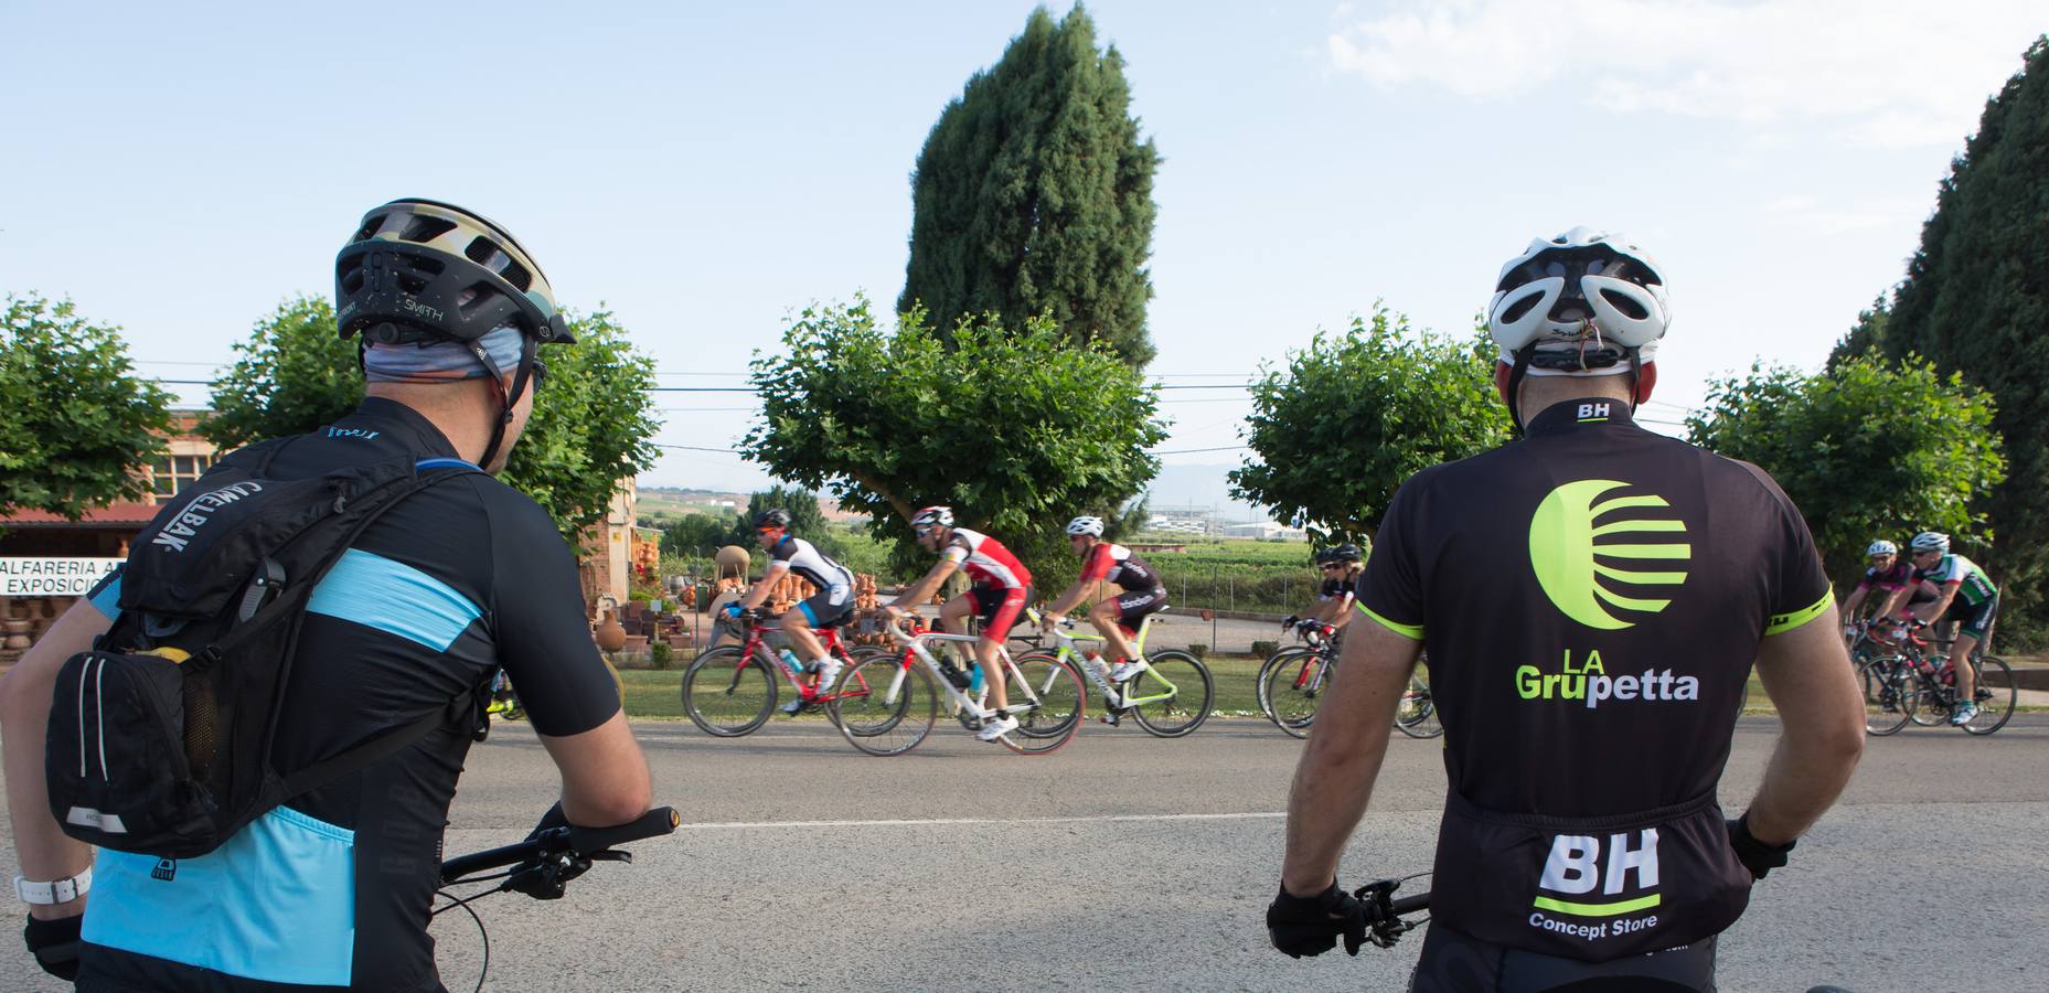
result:
M 1432 917 L 1586 960 L 1727 927 L 1715 784 L 1766 635 L 1832 602 L 1793 502 L 1611 399 L 1410 479 L 1358 608 L 1428 649 L 1451 794 Z

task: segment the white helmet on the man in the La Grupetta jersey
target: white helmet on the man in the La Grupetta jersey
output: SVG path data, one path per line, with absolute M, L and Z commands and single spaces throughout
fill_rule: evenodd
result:
M 1488 334 L 1529 375 L 1615 375 L 1649 362 L 1672 323 L 1664 274 L 1621 233 L 1574 227 L 1502 264 Z M 1631 352 L 1635 352 L 1631 356 Z M 1635 362 L 1631 362 L 1635 358 Z

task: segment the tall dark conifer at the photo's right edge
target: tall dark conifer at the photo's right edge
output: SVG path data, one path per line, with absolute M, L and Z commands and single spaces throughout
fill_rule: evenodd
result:
M 1998 397 L 2012 461 L 1988 504 L 2000 545 L 1985 555 L 2004 600 L 2041 602 L 2049 569 L 2049 37 L 1985 102 L 1977 133 L 1936 195 L 1920 250 L 1893 295 L 1883 348 L 1918 352 Z M 2018 600 L 2018 602 L 2016 602 Z

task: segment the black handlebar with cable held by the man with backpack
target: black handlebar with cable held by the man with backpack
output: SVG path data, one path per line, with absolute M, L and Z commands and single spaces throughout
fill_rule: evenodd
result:
M 582 876 L 596 862 L 633 862 L 631 852 L 613 846 L 660 837 L 676 831 L 682 817 L 672 807 L 656 807 L 633 821 L 617 827 L 551 827 L 533 837 L 504 848 L 492 848 L 467 856 L 455 856 L 441 864 L 441 882 L 434 895 L 447 899 L 428 913 L 428 923 L 447 911 L 461 909 L 477 921 L 477 938 L 484 942 L 484 964 L 477 968 L 477 991 L 492 968 L 492 936 L 484 930 L 484 917 L 469 907 L 471 901 L 492 893 L 525 893 L 533 899 L 559 899 L 570 880 Z M 510 866 L 510 868 L 506 868 Z M 482 874 L 494 868 L 504 872 Z M 447 887 L 467 887 L 471 882 L 498 882 L 488 891 L 457 897 Z

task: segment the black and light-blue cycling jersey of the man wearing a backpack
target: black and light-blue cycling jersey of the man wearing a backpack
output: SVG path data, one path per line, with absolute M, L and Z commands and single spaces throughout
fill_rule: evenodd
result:
M 275 444 L 281 477 L 455 457 L 430 422 L 379 397 Z M 119 581 L 90 598 L 109 616 Z M 582 606 L 576 559 L 533 500 L 486 475 L 412 495 L 313 588 L 277 766 L 305 768 L 445 710 L 500 667 L 539 733 L 602 725 L 619 696 Z M 451 721 L 201 858 L 100 850 L 78 989 L 443 989 L 426 921 L 469 733 Z

